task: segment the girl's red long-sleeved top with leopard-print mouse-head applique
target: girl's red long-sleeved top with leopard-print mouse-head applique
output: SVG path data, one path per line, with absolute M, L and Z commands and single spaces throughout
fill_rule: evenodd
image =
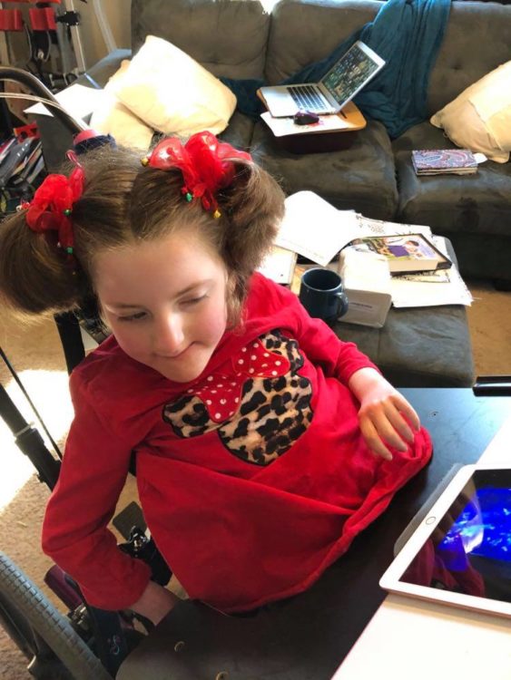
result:
M 374 364 L 289 290 L 256 274 L 245 312 L 191 383 L 113 337 L 75 369 L 43 548 L 92 605 L 129 607 L 149 578 L 106 528 L 132 451 L 164 559 L 190 597 L 226 612 L 308 588 L 427 463 L 425 430 L 392 461 L 369 451 L 347 384 Z

